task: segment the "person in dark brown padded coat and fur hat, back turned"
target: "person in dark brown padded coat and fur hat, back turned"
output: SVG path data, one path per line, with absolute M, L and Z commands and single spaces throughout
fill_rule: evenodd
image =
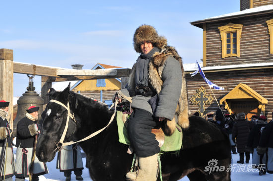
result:
M 244 155 L 246 155 L 246 163 L 249 163 L 250 153 L 246 152 L 246 145 L 250 130 L 254 127 L 254 124 L 246 120 L 245 113 L 237 114 L 237 121 L 233 125 L 232 140 L 237 145 L 237 151 L 240 154 L 240 160 L 237 163 L 244 163 Z

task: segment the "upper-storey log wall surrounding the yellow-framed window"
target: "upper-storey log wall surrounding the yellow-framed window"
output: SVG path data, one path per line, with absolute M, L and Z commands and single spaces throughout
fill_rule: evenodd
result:
M 270 36 L 266 21 L 273 15 L 249 17 L 218 23 L 207 23 L 206 66 L 273 62 L 270 54 Z M 228 23 L 242 24 L 240 57 L 222 58 L 221 36 L 218 27 Z

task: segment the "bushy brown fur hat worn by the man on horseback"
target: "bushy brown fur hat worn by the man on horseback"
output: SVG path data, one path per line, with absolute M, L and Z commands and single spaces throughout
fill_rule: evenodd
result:
M 134 34 L 133 42 L 134 49 L 138 53 L 142 53 L 140 45 L 144 41 L 149 41 L 153 44 L 154 47 L 161 49 L 163 46 L 167 45 L 167 40 L 163 36 L 157 34 L 156 29 L 150 25 L 141 25 L 139 26 Z

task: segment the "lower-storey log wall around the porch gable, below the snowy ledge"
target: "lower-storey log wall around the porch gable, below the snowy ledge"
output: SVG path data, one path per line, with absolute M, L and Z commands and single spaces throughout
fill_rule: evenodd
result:
M 213 90 L 213 93 L 218 102 L 232 89 L 234 89 L 239 83 L 248 85 L 250 88 L 252 88 L 254 91 L 256 91 L 268 100 L 268 104 L 265 106 L 266 116 L 268 117 L 268 120 L 272 119 L 273 69 L 240 70 L 213 73 L 207 72 L 205 73 L 205 76 L 211 82 L 225 88 L 225 90 Z M 189 110 L 191 111 L 191 114 L 193 114 L 199 108 L 198 105 L 193 105 L 190 101 L 191 97 L 197 94 L 196 90 L 203 86 L 206 89 L 207 94 L 211 94 L 212 97 L 213 94 L 204 79 L 199 74 L 193 77 L 191 77 L 189 74 L 186 74 L 186 81 L 188 89 Z M 216 112 L 217 108 L 218 105 L 215 99 L 213 100 L 211 105 L 205 105 L 206 111 Z

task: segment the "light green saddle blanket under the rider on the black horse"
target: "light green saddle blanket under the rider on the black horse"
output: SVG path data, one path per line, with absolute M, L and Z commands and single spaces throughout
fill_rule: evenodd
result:
M 124 126 L 122 121 L 122 112 L 117 111 L 117 125 L 118 125 L 118 133 L 119 133 L 119 142 L 130 145 L 130 141 L 127 135 L 127 129 Z M 178 125 L 177 125 L 178 126 Z M 164 144 L 161 146 L 161 152 L 174 152 L 179 151 L 182 146 L 182 132 L 179 132 L 177 129 L 171 136 L 165 135 Z

